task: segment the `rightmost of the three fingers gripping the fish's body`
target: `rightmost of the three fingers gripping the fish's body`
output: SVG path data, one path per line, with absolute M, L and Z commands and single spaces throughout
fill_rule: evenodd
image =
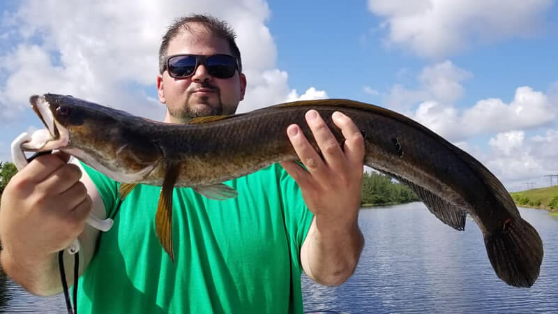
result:
M 333 112 L 333 123 L 341 129 L 345 137 L 345 156 L 350 163 L 363 163 L 364 159 L 364 138 L 361 130 L 354 124 L 351 118 L 342 112 Z

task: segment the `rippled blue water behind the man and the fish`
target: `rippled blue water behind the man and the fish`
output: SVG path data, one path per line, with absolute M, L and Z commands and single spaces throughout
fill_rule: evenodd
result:
M 533 287 L 495 275 L 480 230 L 447 227 L 422 203 L 363 209 L 366 245 L 359 267 L 339 287 L 303 276 L 305 311 L 343 313 L 558 313 L 558 218 L 520 209 L 541 234 L 545 257 Z M 63 297 L 35 297 L 0 271 L 0 312 L 65 313 Z

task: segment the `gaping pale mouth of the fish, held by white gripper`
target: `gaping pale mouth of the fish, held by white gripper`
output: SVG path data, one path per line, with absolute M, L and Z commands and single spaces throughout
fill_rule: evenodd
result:
M 31 135 L 31 141 L 22 144 L 22 148 L 27 151 L 48 151 L 68 146 L 68 130 L 56 121 L 52 106 L 45 96 L 33 95 L 29 98 L 29 103 L 46 129 L 36 130 Z

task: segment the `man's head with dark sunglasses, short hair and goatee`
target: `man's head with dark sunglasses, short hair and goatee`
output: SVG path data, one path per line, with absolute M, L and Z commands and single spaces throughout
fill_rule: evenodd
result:
M 235 37 L 225 22 L 206 15 L 183 17 L 169 27 L 159 49 L 160 75 L 157 77 L 159 100 L 167 105 L 165 121 L 183 123 L 193 117 L 236 111 L 239 101 L 244 98 L 246 77 L 241 73 L 241 56 Z M 176 54 L 202 57 L 197 57 L 197 67 L 191 75 L 179 77 L 176 71 L 169 73 L 167 68 L 168 57 Z M 206 58 L 215 54 L 236 58 L 237 69 L 232 77 L 220 78 L 223 75 L 212 71 L 211 66 L 218 57 Z M 195 57 L 189 58 L 195 60 Z

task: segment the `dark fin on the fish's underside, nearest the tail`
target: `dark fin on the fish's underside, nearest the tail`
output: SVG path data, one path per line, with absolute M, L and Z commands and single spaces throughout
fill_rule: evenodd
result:
M 426 208 L 439 220 L 442 220 L 442 223 L 453 227 L 455 230 L 465 230 L 465 218 L 467 218 L 467 213 L 465 211 L 458 209 L 441 197 L 411 181 L 393 176 L 393 174 L 390 175 L 414 190 L 416 195 L 424 202 Z

